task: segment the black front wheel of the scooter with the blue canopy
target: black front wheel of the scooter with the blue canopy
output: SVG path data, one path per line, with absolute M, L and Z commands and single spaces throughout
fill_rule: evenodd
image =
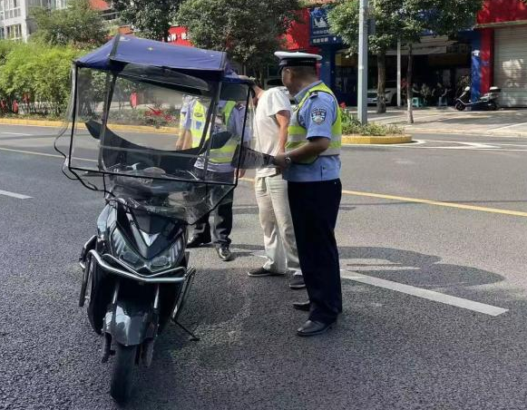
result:
M 125 404 L 132 393 L 132 374 L 136 355 L 137 346 L 123 346 L 116 343 L 110 395 L 120 405 Z

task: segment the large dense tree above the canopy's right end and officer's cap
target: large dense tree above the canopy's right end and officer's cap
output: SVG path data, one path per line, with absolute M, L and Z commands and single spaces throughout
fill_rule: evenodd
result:
M 227 52 L 262 78 L 299 8 L 298 0 L 187 0 L 177 20 L 192 44 Z

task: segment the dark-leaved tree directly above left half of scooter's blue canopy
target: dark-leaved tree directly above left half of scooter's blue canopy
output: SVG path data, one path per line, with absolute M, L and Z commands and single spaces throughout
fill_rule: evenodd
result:
M 112 4 L 122 21 L 132 24 L 142 37 L 168 40 L 181 0 L 113 0 Z

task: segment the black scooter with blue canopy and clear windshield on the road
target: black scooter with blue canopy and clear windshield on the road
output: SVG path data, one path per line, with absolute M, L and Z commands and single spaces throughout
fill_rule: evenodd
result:
M 62 153 L 65 144 L 67 176 L 104 193 L 97 233 L 80 257 L 79 306 L 87 306 L 101 336 L 102 362 L 113 356 L 110 392 L 118 403 L 131 395 L 135 365 L 151 366 L 156 338 L 170 321 L 193 336 L 178 321 L 196 272 L 185 249 L 187 227 L 237 186 L 237 172 L 218 182 L 207 170 L 211 152 L 233 141 L 236 150 L 221 153 L 239 168 L 240 138 L 226 131 L 219 102 L 243 104 L 247 118 L 249 85 L 224 53 L 132 36 L 117 35 L 73 62 L 70 118 L 55 148 Z M 126 103 L 130 93 L 141 97 L 136 107 Z M 186 138 L 179 116 L 160 128 L 145 122 L 144 112 L 189 96 L 200 102 L 193 118 L 200 142 L 176 151 L 176 139 Z

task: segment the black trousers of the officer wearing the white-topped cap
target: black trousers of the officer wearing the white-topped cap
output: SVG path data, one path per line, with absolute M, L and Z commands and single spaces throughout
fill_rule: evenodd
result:
M 311 302 L 310 320 L 332 323 L 342 312 L 335 225 L 342 197 L 340 180 L 288 182 L 298 259 Z

